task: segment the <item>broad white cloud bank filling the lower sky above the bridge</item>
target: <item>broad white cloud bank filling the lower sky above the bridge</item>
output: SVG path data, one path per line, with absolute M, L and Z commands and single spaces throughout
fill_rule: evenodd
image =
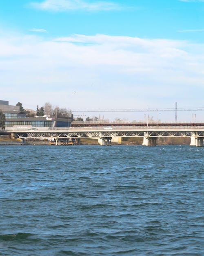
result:
M 203 70 L 204 45 L 187 41 L 0 38 L 1 98 L 15 95 L 29 109 L 47 101 L 72 109 L 202 106 Z

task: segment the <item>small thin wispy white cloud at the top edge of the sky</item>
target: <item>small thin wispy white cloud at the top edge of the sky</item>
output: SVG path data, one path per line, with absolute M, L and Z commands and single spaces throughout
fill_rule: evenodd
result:
M 120 9 L 120 6 L 113 2 L 106 1 L 86 1 L 86 0 L 44 0 L 43 2 L 32 2 L 31 6 L 36 9 L 46 11 L 69 11 L 69 10 L 86 10 L 86 11 L 108 11 Z

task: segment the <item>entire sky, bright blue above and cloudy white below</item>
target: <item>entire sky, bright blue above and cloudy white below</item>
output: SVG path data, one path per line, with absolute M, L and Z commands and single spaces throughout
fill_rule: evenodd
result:
M 0 99 L 203 106 L 203 14 L 204 0 L 0 1 Z

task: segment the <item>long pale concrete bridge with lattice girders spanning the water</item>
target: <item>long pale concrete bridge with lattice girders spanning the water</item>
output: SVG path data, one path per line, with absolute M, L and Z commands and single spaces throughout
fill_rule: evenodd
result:
M 69 138 L 98 138 L 100 145 L 110 145 L 114 138 L 143 137 L 143 144 L 156 146 L 160 137 L 190 137 L 191 146 L 204 146 L 204 124 L 186 126 L 128 126 L 128 127 L 7 127 L 0 134 L 14 134 L 16 138 L 47 138 L 59 140 Z

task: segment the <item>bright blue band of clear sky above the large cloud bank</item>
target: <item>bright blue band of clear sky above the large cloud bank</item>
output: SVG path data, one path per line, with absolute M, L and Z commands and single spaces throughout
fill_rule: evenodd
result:
M 95 8 L 91 9 L 92 5 Z M 41 28 L 47 31 L 44 36 L 50 38 L 70 34 L 107 34 L 203 42 L 203 12 L 202 0 L 0 2 L 3 26 L 30 34 L 31 29 Z

